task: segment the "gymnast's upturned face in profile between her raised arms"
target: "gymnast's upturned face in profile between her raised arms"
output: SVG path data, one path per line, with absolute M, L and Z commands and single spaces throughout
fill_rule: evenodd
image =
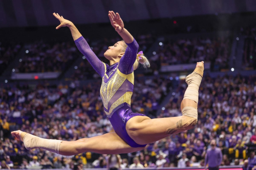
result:
M 116 42 L 113 46 L 109 46 L 109 50 L 104 53 L 104 57 L 108 60 L 120 59 L 124 55 L 123 41 Z

